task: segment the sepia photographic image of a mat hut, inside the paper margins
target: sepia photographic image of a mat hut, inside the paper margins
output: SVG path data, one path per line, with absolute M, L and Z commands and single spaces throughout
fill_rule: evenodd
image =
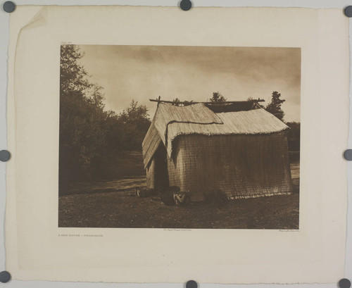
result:
M 299 230 L 301 49 L 62 44 L 58 227 Z

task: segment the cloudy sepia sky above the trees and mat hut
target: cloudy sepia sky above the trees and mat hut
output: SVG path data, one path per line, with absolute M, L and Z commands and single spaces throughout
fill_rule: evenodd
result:
M 153 118 L 156 99 L 208 101 L 271 100 L 281 93 L 284 120 L 300 121 L 301 49 L 223 46 L 80 45 L 90 80 L 103 87 L 107 110 L 138 101 Z

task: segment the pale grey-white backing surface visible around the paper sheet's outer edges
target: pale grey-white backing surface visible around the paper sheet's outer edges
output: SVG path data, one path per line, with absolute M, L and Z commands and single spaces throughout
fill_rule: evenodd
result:
M 1 6 L 4 2 L 1 2 Z M 49 4 L 60 4 L 60 5 L 149 5 L 149 6 L 177 6 L 177 1 L 161 1 L 161 0 L 134 0 L 134 1 L 113 1 L 113 0 L 89 0 L 89 1 L 78 1 L 78 0 L 30 0 L 30 1 L 15 1 L 18 5 L 23 4 L 36 4 L 36 5 L 49 5 Z M 310 1 L 294 1 L 294 0 L 237 0 L 237 1 L 193 1 L 194 6 L 274 6 L 274 7 L 308 7 L 308 8 L 341 8 L 341 17 L 345 17 L 343 8 L 348 6 L 348 1 L 337 1 L 337 0 L 310 0 Z M 13 12 L 15 13 L 15 12 Z M 187 13 L 187 12 L 184 12 Z M 0 11 L 0 150 L 6 149 L 6 72 L 7 72 L 7 45 L 8 45 L 8 13 L 5 13 L 2 9 Z M 351 21 L 350 21 L 351 22 Z M 351 24 L 350 24 L 351 31 Z M 351 32 L 350 32 L 351 35 Z M 351 45 L 351 41 L 350 41 Z M 349 61 L 349 59 L 346 59 Z M 351 70 L 351 69 L 350 69 Z M 351 96 L 351 93 L 350 93 Z M 351 106 L 350 106 L 351 111 Z M 351 134 L 351 130 L 350 130 Z M 349 145 L 352 147 L 351 135 L 349 137 Z M 347 149 L 348 147 L 346 147 Z M 11 152 L 11 151 L 10 151 Z M 341 151 L 341 157 L 344 151 Z M 352 181 L 352 164 L 348 165 L 348 175 L 350 175 L 349 184 Z M 5 184 L 5 163 L 0 163 L 0 270 L 5 269 L 5 249 L 4 249 L 4 212 L 6 202 L 6 184 Z M 349 185 L 351 186 L 351 185 Z M 351 195 L 351 188 L 348 189 L 348 194 Z M 348 199 L 348 206 L 352 208 L 351 197 Z M 347 238 L 347 250 L 346 250 L 346 276 L 352 280 L 352 216 L 348 214 L 348 238 Z M 11 271 L 9 271 L 11 273 Z M 195 279 L 196 280 L 196 279 Z M 337 279 L 337 282 L 339 279 Z M 8 282 L 6 287 L 184 287 L 184 284 L 104 284 L 104 283 L 70 283 L 70 282 L 23 282 L 23 281 L 11 281 Z M 200 284 L 200 287 L 243 287 L 243 284 L 239 285 L 216 285 L 216 284 Z M 248 285 L 247 285 L 248 286 Z M 249 285 L 249 287 L 337 287 L 336 284 L 322 284 L 322 285 L 274 285 L 274 284 L 258 284 Z M 4 286 L 5 287 L 5 286 Z

